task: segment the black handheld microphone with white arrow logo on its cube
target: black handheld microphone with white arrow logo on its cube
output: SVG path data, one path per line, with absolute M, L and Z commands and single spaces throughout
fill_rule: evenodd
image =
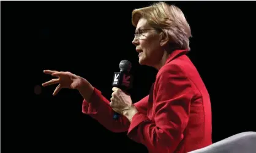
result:
M 120 88 L 122 91 L 126 92 L 132 88 L 133 77 L 129 73 L 130 68 L 132 68 L 132 63 L 129 60 L 121 60 L 119 63 L 120 72 L 115 72 L 113 77 L 112 86 Z M 119 118 L 119 113 L 114 113 L 113 119 Z

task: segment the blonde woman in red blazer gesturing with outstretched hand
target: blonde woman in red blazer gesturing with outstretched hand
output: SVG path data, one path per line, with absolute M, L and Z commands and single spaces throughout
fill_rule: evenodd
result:
M 132 104 L 129 95 L 113 88 L 110 101 L 86 79 L 69 72 L 46 70 L 58 77 L 43 86 L 80 91 L 83 113 L 97 119 L 113 132 L 127 131 L 128 137 L 144 144 L 149 152 L 189 152 L 211 141 L 211 104 L 208 91 L 189 60 L 189 24 L 183 12 L 164 2 L 135 9 L 132 24 L 140 65 L 158 69 L 148 96 Z M 122 117 L 113 119 L 113 113 Z

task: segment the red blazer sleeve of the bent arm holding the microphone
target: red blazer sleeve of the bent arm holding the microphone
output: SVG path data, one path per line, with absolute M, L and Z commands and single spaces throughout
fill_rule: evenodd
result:
M 193 97 L 190 80 L 178 65 L 160 69 L 154 86 L 154 122 L 138 112 L 132 118 L 128 137 L 159 152 L 173 152 L 183 140 Z

